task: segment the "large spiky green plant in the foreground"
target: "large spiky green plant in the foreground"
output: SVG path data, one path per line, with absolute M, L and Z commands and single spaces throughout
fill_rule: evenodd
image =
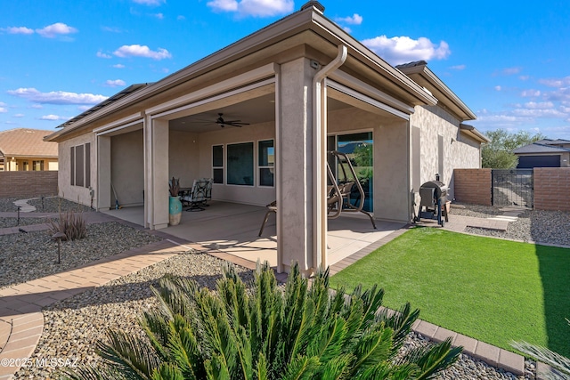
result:
M 447 340 L 398 356 L 418 318 L 406 303 L 380 309 L 378 287 L 332 294 L 329 271 L 311 287 L 294 265 L 283 289 L 268 263 L 248 289 L 231 264 L 216 292 L 186 278 L 166 277 L 153 292 L 159 311 L 141 325 L 148 343 L 110 331 L 101 344 L 108 369 L 82 368 L 70 378 L 138 379 L 423 379 L 458 359 Z

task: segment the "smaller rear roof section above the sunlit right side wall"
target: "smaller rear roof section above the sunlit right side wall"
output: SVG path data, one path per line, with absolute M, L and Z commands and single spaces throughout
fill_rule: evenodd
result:
M 414 61 L 396 66 L 396 69 L 402 71 L 408 77 L 423 86 L 429 93 L 434 95 L 438 101 L 438 105 L 443 105 L 451 110 L 461 121 L 475 120 L 475 113 L 468 108 L 467 104 L 460 100 L 459 96 L 442 82 L 434 72 L 428 69 L 428 62 Z

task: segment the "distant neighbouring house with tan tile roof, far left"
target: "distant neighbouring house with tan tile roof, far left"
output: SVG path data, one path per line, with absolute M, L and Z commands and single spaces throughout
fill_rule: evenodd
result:
M 57 144 L 44 141 L 51 133 L 30 128 L 0 131 L 0 171 L 57 170 Z

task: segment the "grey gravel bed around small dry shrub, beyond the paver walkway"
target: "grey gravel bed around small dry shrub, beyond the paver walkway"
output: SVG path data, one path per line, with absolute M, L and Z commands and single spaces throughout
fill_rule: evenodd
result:
M 160 239 L 118 222 L 87 225 L 87 237 L 61 242 L 61 263 L 57 242 L 46 230 L 0 236 L 0 287 L 68 271 L 86 263 Z

